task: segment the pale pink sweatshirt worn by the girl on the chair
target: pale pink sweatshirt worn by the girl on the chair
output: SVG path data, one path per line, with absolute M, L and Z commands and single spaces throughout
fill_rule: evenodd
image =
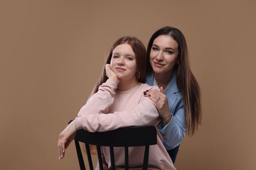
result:
M 78 117 L 74 120 L 75 126 L 92 132 L 148 124 L 157 126 L 161 121 L 158 110 L 154 102 L 143 94 L 152 88 L 148 84 L 139 84 L 130 90 L 119 91 L 116 83 L 108 79 L 79 110 Z M 158 131 L 158 143 L 150 146 L 148 169 L 175 169 L 161 139 Z M 108 168 L 111 169 L 109 148 L 102 147 L 102 151 Z M 114 148 L 114 152 L 116 169 L 124 169 L 124 149 Z M 130 168 L 142 169 L 143 156 L 144 147 L 129 148 Z

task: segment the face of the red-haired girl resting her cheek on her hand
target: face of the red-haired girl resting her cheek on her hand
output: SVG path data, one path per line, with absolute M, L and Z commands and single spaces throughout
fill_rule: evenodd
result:
M 129 44 L 120 44 L 114 48 L 110 66 L 119 80 L 136 80 L 137 62 Z

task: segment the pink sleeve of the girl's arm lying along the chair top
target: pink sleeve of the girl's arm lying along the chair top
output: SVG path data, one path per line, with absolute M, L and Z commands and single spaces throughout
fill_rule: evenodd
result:
M 112 112 L 108 114 L 88 114 L 75 118 L 77 129 L 86 129 L 91 132 L 109 131 L 119 127 L 156 125 L 160 116 L 154 103 L 148 97 L 142 97 L 140 103 L 130 111 Z

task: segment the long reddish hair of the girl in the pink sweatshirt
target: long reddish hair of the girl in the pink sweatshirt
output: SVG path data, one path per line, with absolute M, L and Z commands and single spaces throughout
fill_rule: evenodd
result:
M 144 83 L 146 81 L 146 48 L 144 44 L 136 37 L 125 36 L 117 39 L 117 41 L 110 48 L 110 52 L 108 53 L 108 56 L 106 58 L 105 65 L 110 63 L 114 49 L 116 48 L 116 46 L 120 44 L 129 44 L 131 48 L 133 48 L 133 52 L 135 52 L 135 58 L 137 63 L 137 80 L 138 82 Z M 95 84 L 95 87 L 91 92 L 91 95 L 98 92 L 98 87 L 102 83 L 106 82 L 106 80 L 108 80 L 108 77 L 106 76 L 105 67 L 103 67 L 100 78 L 98 82 Z

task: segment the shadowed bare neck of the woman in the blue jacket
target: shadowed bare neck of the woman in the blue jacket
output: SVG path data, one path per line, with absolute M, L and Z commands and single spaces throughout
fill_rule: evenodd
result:
M 171 71 L 171 73 L 154 73 L 154 77 L 158 87 L 165 89 L 173 77 L 173 71 Z

